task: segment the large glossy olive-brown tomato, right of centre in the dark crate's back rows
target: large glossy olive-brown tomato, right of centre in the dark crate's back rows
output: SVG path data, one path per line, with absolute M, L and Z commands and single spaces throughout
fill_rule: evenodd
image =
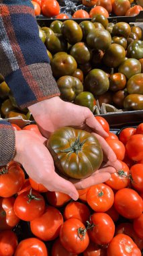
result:
M 96 29 L 87 35 L 87 44 L 91 49 L 107 50 L 111 44 L 111 35 L 107 30 Z

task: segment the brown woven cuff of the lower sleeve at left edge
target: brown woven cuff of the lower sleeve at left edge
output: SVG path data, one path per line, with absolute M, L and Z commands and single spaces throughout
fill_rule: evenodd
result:
M 15 154 L 15 133 L 11 124 L 0 121 L 0 166 L 4 166 L 13 159 Z

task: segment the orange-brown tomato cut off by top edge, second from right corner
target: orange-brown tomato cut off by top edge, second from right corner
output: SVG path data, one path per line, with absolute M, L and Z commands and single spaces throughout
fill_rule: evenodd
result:
M 113 13 L 117 16 L 125 16 L 128 9 L 130 9 L 131 4 L 128 0 L 115 0 L 113 1 Z

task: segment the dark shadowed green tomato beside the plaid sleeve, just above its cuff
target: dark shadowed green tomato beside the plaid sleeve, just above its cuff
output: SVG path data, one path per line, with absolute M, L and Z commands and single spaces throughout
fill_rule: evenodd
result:
M 51 53 L 68 51 L 68 42 L 61 34 L 50 34 L 45 41 L 46 48 Z

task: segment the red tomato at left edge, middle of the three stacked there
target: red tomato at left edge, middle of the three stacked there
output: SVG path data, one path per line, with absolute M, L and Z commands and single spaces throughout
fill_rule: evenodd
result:
M 13 210 L 14 202 L 14 197 L 0 197 L 0 230 L 12 229 L 19 222 Z

